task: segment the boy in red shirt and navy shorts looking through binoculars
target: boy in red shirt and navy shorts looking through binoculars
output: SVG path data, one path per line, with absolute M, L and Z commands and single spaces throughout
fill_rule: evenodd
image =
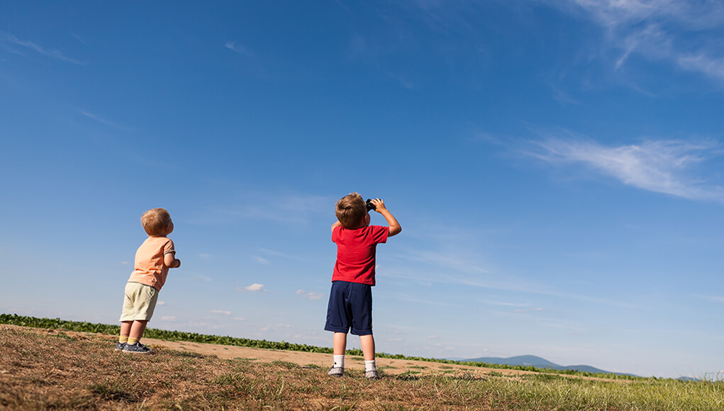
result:
M 384 216 L 389 226 L 370 226 L 369 210 Z M 379 198 L 365 202 L 356 192 L 345 195 L 336 205 L 337 222 L 332 224 L 332 241 L 337 244 L 337 263 L 329 292 L 327 324 L 334 332 L 334 365 L 330 376 L 345 373 L 347 333 L 360 336 L 365 363 L 365 377 L 379 378 L 374 360 L 372 336 L 372 289 L 374 286 L 375 250 L 387 237 L 403 230 Z

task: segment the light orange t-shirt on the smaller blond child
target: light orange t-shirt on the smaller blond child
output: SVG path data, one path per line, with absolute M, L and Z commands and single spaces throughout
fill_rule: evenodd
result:
M 169 274 L 169 268 L 164 264 L 164 256 L 168 253 L 176 253 L 171 239 L 148 237 L 136 251 L 134 270 L 128 282 L 137 282 L 161 291 Z

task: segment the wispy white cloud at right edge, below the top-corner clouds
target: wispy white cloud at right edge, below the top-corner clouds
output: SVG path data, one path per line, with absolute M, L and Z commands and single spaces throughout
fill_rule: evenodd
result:
M 724 189 L 694 174 L 694 168 L 722 154 L 715 140 L 647 140 L 608 146 L 576 137 L 531 142 L 528 156 L 556 166 L 578 164 L 625 185 L 693 200 L 724 202 Z

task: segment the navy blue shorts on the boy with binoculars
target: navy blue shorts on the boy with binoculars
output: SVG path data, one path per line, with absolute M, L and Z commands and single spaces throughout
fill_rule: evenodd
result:
M 333 281 L 324 329 L 335 333 L 372 334 L 372 286 Z

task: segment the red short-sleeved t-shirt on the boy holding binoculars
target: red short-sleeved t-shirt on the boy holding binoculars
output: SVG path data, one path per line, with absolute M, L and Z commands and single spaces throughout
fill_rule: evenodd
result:
M 345 229 L 336 226 L 332 241 L 337 243 L 337 263 L 334 263 L 332 281 L 349 281 L 374 285 L 374 253 L 381 242 L 387 242 L 390 227 L 363 226 Z

